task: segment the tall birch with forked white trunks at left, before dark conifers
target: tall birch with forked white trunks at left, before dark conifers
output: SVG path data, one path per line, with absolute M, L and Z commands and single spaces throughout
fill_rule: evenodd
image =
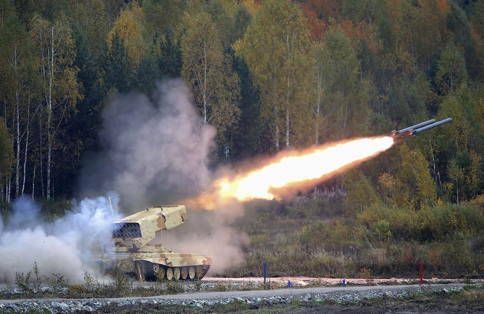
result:
M 30 22 L 30 38 L 40 58 L 39 71 L 46 115 L 44 131 L 47 137 L 46 198 L 48 200 L 51 195 L 51 157 L 55 138 L 65 128 L 71 114 L 76 112 L 76 102 L 82 94 L 81 85 L 76 78 L 79 69 L 73 66 L 76 47 L 65 14 L 59 14 L 53 22 L 35 14 Z M 42 137 L 43 134 L 41 133 L 40 136 Z M 41 180 L 43 180 L 42 177 Z

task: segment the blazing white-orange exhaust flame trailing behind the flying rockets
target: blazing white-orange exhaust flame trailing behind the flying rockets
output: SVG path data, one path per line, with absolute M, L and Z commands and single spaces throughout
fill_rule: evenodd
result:
M 211 208 L 213 202 L 226 203 L 230 199 L 272 200 L 273 192 L 278 189 L 328 176 L 356 161 L 375 156 L 392 144 L 393 139 L 388 136 L 363 138 L 326 145 L 299 156 L 282 157 L 260 169 L 216 180 L 214 192 L 201 195 L 197 203 Z

